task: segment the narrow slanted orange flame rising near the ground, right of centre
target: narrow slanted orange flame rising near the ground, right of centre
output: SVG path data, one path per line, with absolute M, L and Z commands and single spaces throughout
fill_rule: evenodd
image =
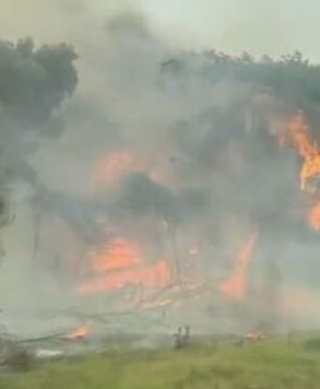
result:
M 221 285 L 221 293 L 225 297 L 242 299 L 246 296 L 247 288 L 247 269 L 252 256 L 258 232 L 253 232 L 237 255 L 236 266 L 232 275 Z

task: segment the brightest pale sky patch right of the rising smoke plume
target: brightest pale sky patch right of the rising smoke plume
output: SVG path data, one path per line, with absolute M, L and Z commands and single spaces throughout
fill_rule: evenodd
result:
M 317 0 L 162 0 L 150 1 L 146 10 L 180 44 L 257 55 L 296 48 L 320 55 Z

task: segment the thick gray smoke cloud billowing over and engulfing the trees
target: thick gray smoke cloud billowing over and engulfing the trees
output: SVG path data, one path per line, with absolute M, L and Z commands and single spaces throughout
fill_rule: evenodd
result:
M 181 52 L 137 10 L 59 7 L 82 28 L 66 22 L 57 34 L 70 37 L 75 62 L 66 45 L 1 46 L 3 176 L 16 213 L 3 232 L 5 308 L 83 308 L 86 298 L 74 291 L 90 278 L 90 252 L 115 236 L 138 241 L 147 263 L 171 257 L 182 275 L 197 248 L 197 275 L 212 291 L 192 303 L 198 326 L 222 304 L 218 285 L 252 231 L 253 294 L 265 263 L 266 278 L 275 267 L 287 287 L 306 283 L 308 274 L 297 276 L 300 256 L 316 258 L 316 236 L 297 188 L 300 162 L 278 150 L 276 134 L 297 108 L 317 122 L 319 69 L 299 54 L 254 61 Z M 90 21 L 99 25 L 95 37 Z

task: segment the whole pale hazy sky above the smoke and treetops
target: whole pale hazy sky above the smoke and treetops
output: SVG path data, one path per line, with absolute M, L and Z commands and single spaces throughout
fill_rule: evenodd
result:
M 0 0 L 0 37 L 94 49 L 105 20 L 128 9 L 175 47 L 275 56 L 299 49 L 320 61 L 319 0 Z

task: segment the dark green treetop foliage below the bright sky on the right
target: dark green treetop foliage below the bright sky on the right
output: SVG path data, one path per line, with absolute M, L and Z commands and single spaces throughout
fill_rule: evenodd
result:
M 212 84 L 232 79 L 262 87 L 285 99 L 320 102 L 320 67 L 309 63 L 299 51 L 272 59 L 256 60 L 247 52 L 240 57 L 223 52 L 187 52 L 167 59 L 161 73 L 169 79 L 187 80 L 190 74 Z

